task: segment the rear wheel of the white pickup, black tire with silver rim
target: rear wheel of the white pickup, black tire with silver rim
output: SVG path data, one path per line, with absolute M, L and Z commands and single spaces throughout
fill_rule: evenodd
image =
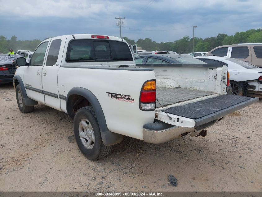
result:
M 95 112 L 91 106 L 80 108 L 74 117 L 74 134 L 78 148 L 90 160 L 107 156 L 112 146 L 105 146 Z

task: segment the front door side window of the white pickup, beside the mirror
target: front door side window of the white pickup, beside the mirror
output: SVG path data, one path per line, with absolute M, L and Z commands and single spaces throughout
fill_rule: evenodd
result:
M 35 50 L 30 65 L 32 66 L 42 66 L 44 63 L 44 58 L 47 50 L 48 42 L 43 42 L 38 46 L 38 48 Z

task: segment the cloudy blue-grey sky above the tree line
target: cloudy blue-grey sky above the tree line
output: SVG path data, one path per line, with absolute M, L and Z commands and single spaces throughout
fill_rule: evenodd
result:
M 124 17 L 122 37 L 156 42 L 183 36 L 262 28 L 262 0 L 0 0 L 0 35 L 43 40 L 67 34 L 120 37 L 115 17 Z

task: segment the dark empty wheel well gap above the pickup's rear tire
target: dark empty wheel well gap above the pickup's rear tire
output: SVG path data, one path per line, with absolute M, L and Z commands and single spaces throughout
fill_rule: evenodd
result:
M 77 110 L 86 106 L 91 106 L 87 98 L 77 94 L 70 95 L 67 101 L 67 114 L 70 118 L 74 118 Z

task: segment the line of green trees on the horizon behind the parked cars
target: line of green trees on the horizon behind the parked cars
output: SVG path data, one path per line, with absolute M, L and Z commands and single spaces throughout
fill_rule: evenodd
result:
M 193 38 L 184 36 L 182 39 L 175 40 L 174 42 L 160 42 L 152 41 L 150 38 L 130 40 L 123 37 L 130 45 L 142 47 L 144 50 L 160 50 L 160 51 L 175 51 L 178 53 L 191 53 L 193 52 Z M 42 40 L 17 40 L 13 35 L 10 40 L 3 35 L 0 35 L 0 53 L 6 54 L 9 49 L 17 51 L 18 49 L 25 49 L 34 51 Z M 232 45 L 237 43 L 262 43 L 262 29 L 251 29 L 247 31 L 237 32 L 235 35 L 218 34 L 216 37 L 210 38 L 197 38 L 195 37 L 195 52 L 208 52 L 217 46 Z

